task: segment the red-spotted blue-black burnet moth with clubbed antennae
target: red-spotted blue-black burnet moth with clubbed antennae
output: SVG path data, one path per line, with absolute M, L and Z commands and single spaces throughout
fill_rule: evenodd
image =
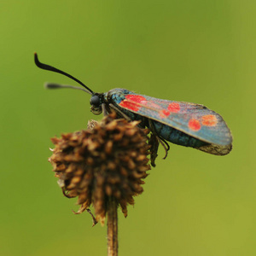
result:
M 41 63 L 37 54 L 34 57 L 38 67 L 61 73 L 84 87 L 49 83 L 47 88 L 84 90 L 91 96 L 92 113 L 108 114 L 114 110 L 119 118 L 140 120 L 140 127 L 148 127 L 166 153 L 169 150 L 166 141 L 216 155 L 229 154 L 232 149 L 232 136 L 224 119 L 201 104 L 161 100 L 123 88 L 96 93 L 70 74 Z

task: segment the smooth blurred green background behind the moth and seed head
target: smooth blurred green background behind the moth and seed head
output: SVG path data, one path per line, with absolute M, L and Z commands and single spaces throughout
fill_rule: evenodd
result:
M 115 87 L 195 102 L 221 113 L 234 136 L 224 157 L 171 145 L 144 193 L 119 212 L 119 255 L 256 255 L 255 1 L 1 1 L 1 255 L 107 255 L 61 195 L 49 138 L 83 129 L 89 95 L 44 90 L 40 61 L 92 90 Z M 96 117 L 100 119 L 101 117 Z

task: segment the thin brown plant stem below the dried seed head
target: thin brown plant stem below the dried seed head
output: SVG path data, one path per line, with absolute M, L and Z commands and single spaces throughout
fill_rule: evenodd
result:
M 108 199 L 108 256 L 118 256 L 118 214 L 117 202 Z

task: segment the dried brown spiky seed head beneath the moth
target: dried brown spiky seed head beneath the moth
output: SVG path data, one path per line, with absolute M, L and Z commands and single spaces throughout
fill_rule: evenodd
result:
M 114 198 L 127 216 L 127 205 L 143 192 L 148 165 L 148 130 L 138 122 L 115 119 L 90 122 L 89 129 L 52 138 L 55 144 L 49 162 L 67 197 L 78 196 L 79 212 L 95 208 L 96 219 L 105 219 L 108 197 Z

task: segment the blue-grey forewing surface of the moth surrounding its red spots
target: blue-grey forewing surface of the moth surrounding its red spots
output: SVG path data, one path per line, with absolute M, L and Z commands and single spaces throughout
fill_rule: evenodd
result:
M 171 126 L 178 131 L 183 131 L 183 133 L 206 143 L 214 143 L 218 145 L 230 145 L 230 143 L 232 143 L 230 129 L 225 124 L 224 119 L 222 119 L 218 113 L 215 113 L 200 104 L 160 100 L 150 96 L 138 95 L 129 90 L 120 88 L 110 90 L 109 93 L 113 104 L 115 104 L 116 107 L 121 108 L 122 111 L 126 109 L 128 112 L 137 113 L 148 119 L 154 119 L 159 121 L 161 124 Z M 127 95 L 143 96 L 146 101 L 140 103 L 132 102 L 131 99 L 127 100 L 125 98 Z M 137 111 L 120 106 L 120 102 L 123 101 L 137 106 Z M 171 113 L 168 117 L 160 117 L 160 110 L 167 109 L 170 103 L 178 103 L 180 111 L 178 113 Z M 199 131 L 189 129 L 188 124 L 190 119 L 201 119 L 205 115 L 214 115 L 217 119 L 217 125 L 201 125 L 201 129 Z

